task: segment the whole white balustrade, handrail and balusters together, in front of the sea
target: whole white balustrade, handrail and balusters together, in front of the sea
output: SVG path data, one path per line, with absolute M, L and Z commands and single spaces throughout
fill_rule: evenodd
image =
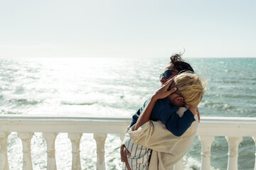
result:
M 55 138 L 60 132 L 68 133 L 72 143 L 72 169 L 81 169 L 80 139 L 82 133 L 92 133 L 97 144 L 97 169 L 105 169 L 105 140 L 107 134 L 119 134 L 122 140 L 130 118 L 97 118 L 72 116 L 0 116 L 0 170 L 9 170 L 7 140 L 10 132 L 18 132 L 23 145 L 23 169 L 33 169 L 31 138 L 42 132 L 47 144 L 47 169 L 57 169 Z M 228 170 L 238 169 L 238 146 L 242 137 L 256 140 L 256 118 L 202 117 L 197 135 L 201 140 L 201 169 L 210 170 L 210 146 L 215 136 L 225 136 L 228 141 Z M 255 141 L 256 143 L 256 141 Z M 256 154 L 255 154 L 256 155 Z M 183 170 L 178 162 L 176 170 Z M 256 164 L 255 164 L 256 169 Z

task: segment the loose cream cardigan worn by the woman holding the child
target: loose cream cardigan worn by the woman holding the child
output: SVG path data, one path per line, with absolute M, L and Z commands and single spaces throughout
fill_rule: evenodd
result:
M 181 109 L 180 109 L 181 110 Z M 178 113 L 180 117 L 183 112 Z M 136 144 L 143 145 L 152 149 L 149 170 L 172 170 L 176 164 L 186 154 L 191 147 L 196 130 L 198 128 L 198 116 L 188 130 L 181 137 L 173 135 L 166 129 L 160 121 L 154 122 L 149 120 L 144 123 L 138 130 L 128 131 L 132 141 Z

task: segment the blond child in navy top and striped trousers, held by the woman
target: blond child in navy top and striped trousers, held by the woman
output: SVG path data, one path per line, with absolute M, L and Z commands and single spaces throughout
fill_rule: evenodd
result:
M 154 104 L 154 108 L 151 110 L 151 115 L 146 116 L 148 116 L 148 118 L 150 116 L 149 120 L 161 120 L 161 123 L 166 126 L 166 129 L 176 135 L 174 138 L 183 135 L 183 133 L 186 132 L 186 130 L 191 126 L 193 121 L 195 121 L 194 115 L 196 115 L 196 106 L 198 106 L 198 103 L 201 101 L 205 92 L 203 85 L 203 81 L 200 79 L 200 77 L 198 77 L 197 74 L 189 72 L 178 74 L 169 87 L 169 89 L 171 89 L 175 86 L 177 91 L 167 96 L 167 98 L 157 100 Z M 137 128 L 142 125 L 142 122 L 139 122 L 138 125 L 137 120 L 147 103 L 148 101 L 146 101 L 144 106 L 140 108 L 139 111 L 132 117 L 132 124 L 130 126 L 131 130 L 137 130 Z M 181 114 L 176 114 L 178 107 L 181 106 L 186 106 L 188 109 L 187 111 L 183 112 L 182 116 Z M 146 121 L 148 120 L 144 118 L 144 123 L 146 123 Z M 164 138 L 159 140 L 163 139 Z M 129 134 L 125 135 L 124 137 L 124 145 L 131 153 L 130 157 L 127 156 L 130 168 L 148 169 L 152 150 L 142 145 L 135 144 L 131 140 Z M 187 149 L 188 147 L 185 148 Z

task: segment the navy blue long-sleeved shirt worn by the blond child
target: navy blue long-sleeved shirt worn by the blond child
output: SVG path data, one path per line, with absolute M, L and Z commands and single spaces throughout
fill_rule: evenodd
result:
M 140 113 L 142 113 L 148 102 L 149 99 L 146 100 L 144 105 L 132 116 L 130 127 L 137 123 Z M 181 136 L 191 126 L 193 121 L 195 121 L 195 118 L 193 113 L 189 110 L 185 111 L 181 118 L 176 114 L 176 111 L 178 111 L 178 107 L 171 106 L 168 98 L 159 99 L 156 101 L 149 119 L 153 121 L 161 120 L 167 130 L 176 136 Z

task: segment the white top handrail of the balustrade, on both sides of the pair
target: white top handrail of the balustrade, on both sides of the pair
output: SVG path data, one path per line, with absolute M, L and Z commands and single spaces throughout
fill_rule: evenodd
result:
M 122 134 L 125 132 L 130 122 L 131 118 L 124 117 L 0 115 L 0 130 L 4 128 L 1 131 Z M 33 128 L 31 128 L 32 125 Z M 51 128 L 50 125 L 55 126 L 55 128 Z M 23 128 L 19 128 L 20 126 Z M 244 117 L 201 117 L 197 132 L 197 135 L 214 136 L 253 137 L 255 134 L 256 118 Z

